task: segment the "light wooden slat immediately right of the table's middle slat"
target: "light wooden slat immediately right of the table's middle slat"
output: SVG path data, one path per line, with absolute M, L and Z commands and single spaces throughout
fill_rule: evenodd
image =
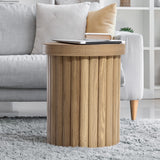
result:
M 90 58 L 89 65 L 89 147 L 97 147 L 98 57 Z

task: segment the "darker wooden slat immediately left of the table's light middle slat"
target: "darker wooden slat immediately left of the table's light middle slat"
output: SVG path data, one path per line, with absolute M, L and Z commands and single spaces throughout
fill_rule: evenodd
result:
M 80 97 L 79 57 L 72 57 L 71 69 L 71 145 L 79 146 L 79 97 Z

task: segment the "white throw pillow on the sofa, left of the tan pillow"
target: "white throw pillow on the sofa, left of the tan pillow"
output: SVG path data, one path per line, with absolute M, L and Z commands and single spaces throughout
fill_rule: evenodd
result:
M 37 4 L 36 38 L 32 53 L 41 54 L 43 44 L 53 39 L 83 39 L 90 3 Z

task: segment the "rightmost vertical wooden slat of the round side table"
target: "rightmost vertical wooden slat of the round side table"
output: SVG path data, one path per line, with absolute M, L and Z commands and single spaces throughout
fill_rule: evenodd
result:
M 119 93 L 118 93 L 118 87 L 119 87 L 119 66 L 118 66 L 118 61 L 119 61 L 119 57 L 118 56 L 115 56 L 114 59 L 113 59 L 113 112 L 112 112 L 112 120 L 113 120 L 113 123 L 112 123 L 112 134 L 113 134 L 113 137 L 112 137 L 112 141 L 113 141 L 113 144 L 116 144 L 118 142 L 118 138 L 117 138 L 117 132 L 118 132 L 118 96 L 119 96 Z

